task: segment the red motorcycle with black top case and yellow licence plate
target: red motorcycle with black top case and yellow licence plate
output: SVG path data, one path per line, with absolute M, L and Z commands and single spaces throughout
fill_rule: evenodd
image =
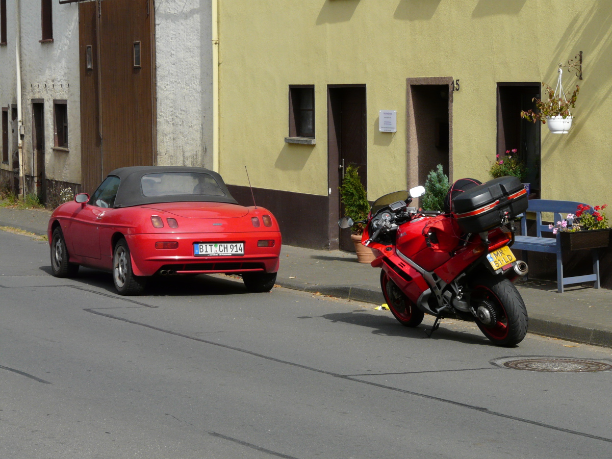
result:
M 364 223 L 362 244 L 381 267 L 381 288 L 389 309 L 406 327 L 424 314 L 475 321 L 500 346 L 515 346 L 527 334 L 527 310 L 513 282 L 528 266 L 510 250 L 512 220 L 527 209 L 527 193 L 516 177 L 480 184 L 461 179 L 451 187 L 444 212 L 409 207 L 424 187 L 382 196 L 362 222 L 342 218 L 349 228 Z

